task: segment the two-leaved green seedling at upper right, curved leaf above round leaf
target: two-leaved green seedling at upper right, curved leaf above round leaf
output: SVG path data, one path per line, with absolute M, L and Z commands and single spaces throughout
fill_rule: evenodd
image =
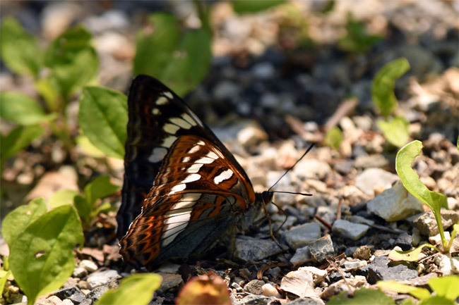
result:
M 407 70 L 410 70 L 410 63 L 406 58 L 391 61 L 378 71 L 371 87 L 374 104 L 384 117 L 384 120 L 378 120 L 376 124 L 388 142 L 396 147 L 402 147 L 410 137 L 408 130 L 410 123 L 405 118 L 401 116 L 389 118 L 397 108 L 397 99 L 394 94 L 395 80 Z

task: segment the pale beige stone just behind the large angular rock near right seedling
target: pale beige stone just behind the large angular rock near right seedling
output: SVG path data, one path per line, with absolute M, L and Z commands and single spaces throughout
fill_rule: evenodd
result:
M 374 189 L 388 189 L 393 182 L 399 180 L 398 175 L 381 168 L 367 168 L 355 178 L 355 186 L 369 196 L 374 196 Z

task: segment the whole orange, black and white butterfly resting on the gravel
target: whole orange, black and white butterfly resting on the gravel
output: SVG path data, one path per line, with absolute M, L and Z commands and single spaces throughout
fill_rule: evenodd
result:
M 207 251 L 253 223 L 273 192 L 255 193 L 242 166 L 185 102 L 138 75 L 128 97 L 124 184 L 117 214 L 126 263 L 155 266 Z

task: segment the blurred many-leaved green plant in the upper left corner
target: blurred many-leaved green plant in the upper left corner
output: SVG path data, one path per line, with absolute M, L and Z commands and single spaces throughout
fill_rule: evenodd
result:
M 8 145 L 1 146 L 1 163 L 40 137 L 42 127 L 49 127 L 70 151 L 74 143 L 67 125 L 67 105 L 78 89 L 93 80 L 99 68 L 92 35 L 77 25 L 42 50 L 37 39 L 14 18 L 5 18 L 0 31 L 2 61 L 14 73 L 33 77 L 40 95 L 39 101 L 20 92 L 1 92 L 1 118 L 18 125 L 2 135 Z M 45 68 L 48 73 L 40 73 Z

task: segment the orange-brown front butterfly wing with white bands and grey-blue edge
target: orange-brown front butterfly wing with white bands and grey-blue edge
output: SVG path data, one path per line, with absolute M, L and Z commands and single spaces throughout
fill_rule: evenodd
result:
M 148 265 L 208 249 L 243 213 L 260 208 L 242 174 L 213 142 L 196 135 L 178 137 L 142 213 L 120 241 L 124 261 Z

